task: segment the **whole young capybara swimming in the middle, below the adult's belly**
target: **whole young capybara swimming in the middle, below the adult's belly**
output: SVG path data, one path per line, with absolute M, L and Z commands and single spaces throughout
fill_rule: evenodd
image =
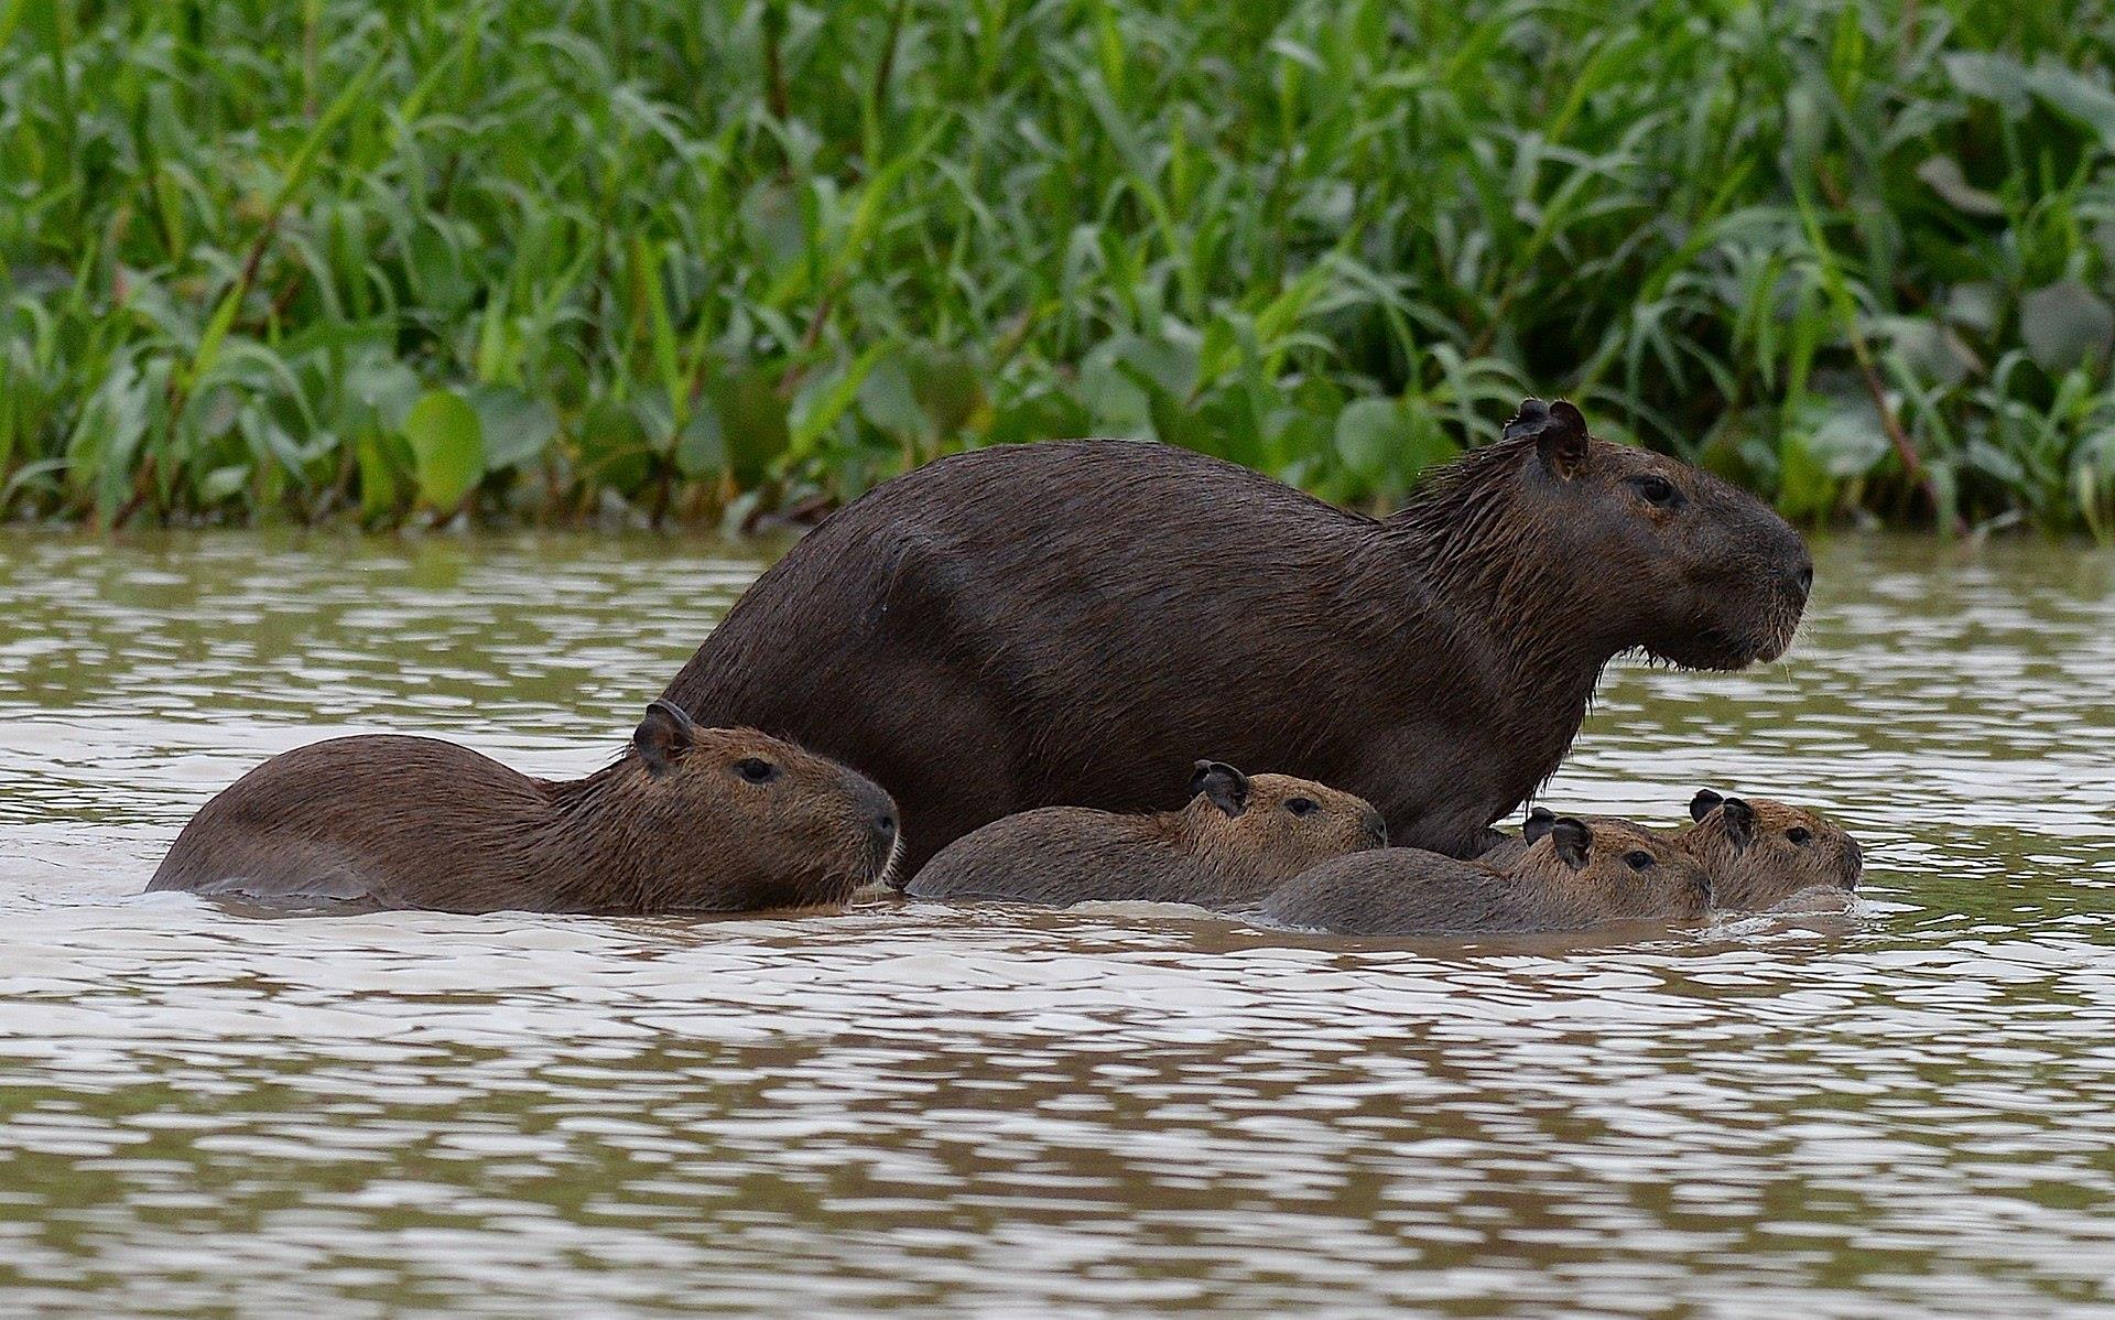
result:
M 920 899 L 1250 903 L 1316 863 L 1387 842 L 1364 798 L 1197 762 L 1182 810 L 1045 806 L 954 840 L 909 882 Z

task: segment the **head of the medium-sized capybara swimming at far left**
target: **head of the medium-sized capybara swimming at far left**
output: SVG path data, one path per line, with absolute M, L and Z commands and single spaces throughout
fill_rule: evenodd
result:
M 897 855 L 897 804 L 838 762 L 747 728 L 698 728 L 658 700 L 632 732 L 635 810 L 670 850 L 696 850 L 719 908 L 842 903 Z

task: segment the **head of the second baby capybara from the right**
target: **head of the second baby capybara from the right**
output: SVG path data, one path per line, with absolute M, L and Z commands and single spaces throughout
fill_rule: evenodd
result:
M 1595 920 L 1694 918 L 1711 908 L 1711 876 L 1681 844 L 1629 821 L 1531 814 L 1512 876 L 1548 884 Z

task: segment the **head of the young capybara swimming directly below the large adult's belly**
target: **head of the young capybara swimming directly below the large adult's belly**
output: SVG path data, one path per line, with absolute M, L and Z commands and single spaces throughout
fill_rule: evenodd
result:
M 1199 857 L 1271 880 L 1387 844 L 1387 821 L 1364 798 L 1225 762 L 1197 762 L 1182 823 Z

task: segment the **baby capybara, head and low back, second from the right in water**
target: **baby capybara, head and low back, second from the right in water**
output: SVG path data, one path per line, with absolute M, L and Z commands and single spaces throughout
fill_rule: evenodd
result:
M 1476 935 L 1694 920 L 1709 905 L 1703 865 L 1667 836 L 1555 817 L 1510 867 L 1379 848 L 1324 861 L 1269 895 L 1263 914 L 1343 935 Z

